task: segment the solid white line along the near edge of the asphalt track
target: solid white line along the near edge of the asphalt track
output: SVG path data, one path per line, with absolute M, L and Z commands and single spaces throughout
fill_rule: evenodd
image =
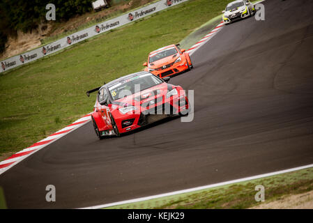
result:
M 313 167 L 313 164 L 309 164 L 309 165 L 305 165 L 302 167 L 295 167 L 295 168 L 291 168 L 291 169 L 284 169 L 281 171 L 275 171 L 275 172 L 271 172 L 268 174 L 260 174 L 257 176 L 250 176 L 250 177 L 246 177 L 246 178 L 240 178 L 237 180 L 229 180 L 229 181 L 225 181 L 222 183 L 215 183 L 215 184 L 211 184 L 211 185 L 204 185 L 201 187 L 193 187 L 190 189 L 186 189 L 186 190 L 178 190 L 175 192 L 169 192 L 169 193 L 165 193 L 165 194 L 158 194 L 158 195 L 153 195 L 153 196 L 149 196 L 149 197 L 142 197 L 142 198 L 137 198 L 137 199 L 130 199 L 127 201 L 119 201 L 119 202 L 114 202 L 114 203 L 106 203 L 106 204 L 102 204 L 102 205 L 98 205 L 98 206 L 91 206 L 91 207 L 87 207 L 87 208 L 81 208 L 81 209 L 98 209 L 98 208 L 108 208 L 108 207 L 112 207 L 112 206 L 119 206 L 122 204 L 126 204 L 126 203 L 135 203 L 135 202 L 139 202 L 139 201 L 147 201 L 147 200 L 151 200 L 151 199 L 157 199 L 157 198 L 161 198 L 161 197 L 167 197 L 167 196 L 171 196 L 171 195 L 177 195 L 177 194 L 184 194 L 184 193 L 188 193 L 188 192 L 196 192 L 198 190 L 204 190 L 204 189 L 208 189 L 208 188 L 212 188 L 212 187 L 220 187 L 220 186 L 224 186 L 224 185 L 229 185 L 232 183 L 240 183 L 243 181 L 247 181 L 247 180 L 255 180 L 258 178 L 264 178 L 267 176 L 274 176 L 277 174 L 285 174 L 285 173 L 289 173 L 292 171 L 297 171 L 300 169 L 307 169 Z

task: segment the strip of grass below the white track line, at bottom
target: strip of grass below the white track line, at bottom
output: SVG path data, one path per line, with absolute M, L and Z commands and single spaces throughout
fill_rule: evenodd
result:
M 178 194 L 159 199 L 128 203 L 113 206 L 108 209 L 136 208 L 176 208 L 176 209 L 206 209 L 206 208 L 251 208 L 263 202 L 254 199 L 256 185 L 265 187 L 265 203 L 276 201 L 285 195 L 301 194 L 313 190 L 313 168 L 280 174 L 257 180 L 234 183 L 231 185 L 213 187 Z

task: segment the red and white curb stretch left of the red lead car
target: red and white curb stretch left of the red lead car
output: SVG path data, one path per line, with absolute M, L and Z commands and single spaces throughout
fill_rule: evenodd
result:
M 79 118 L 77 121 L 73 122 L 72 124 L 66 126 L 66 128 L 63 128 L 59 130 L 58 132 L 55 132 L 54 134 L 50 134 L 49 137 L 36 142 L 36 144 L 33 144 L 29 146 L 28 148 L 24 148 L 20 152 L 13 154 L 12 156 L 8 157 L 6 160 L 3 160 L 2 162 L 0 162 L 0 174 L 3 174 L 4 171 L 7 171 L 18 162 L 21 162 L 22 160 L 24 160 L 29 155 L 36 153 L 41 148 L 44 148 L 45 146 L 49 144 L 52 144 L 52 142 L 56 141 L 56 139 L 60 139 L 64 135 L 68 134 L 69 132 L 72 132 L 72 130 L 75 130 L 81 127 L 82 125 L 86 124 L 90 120 L 91 120 L 91 116 L 90 114 L 87 114 L 86 116 L 83 116 L 82 118 Z

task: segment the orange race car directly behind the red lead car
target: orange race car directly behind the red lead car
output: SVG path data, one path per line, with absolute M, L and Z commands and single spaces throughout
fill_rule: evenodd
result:
M 162 47 L 151 52 L 148 56 L 148 63 L 145 71 L 153 73 L 158 77 L 167 77 L 188 71 L 193 68 L 188 52 L 179 49 L 179 44 Z

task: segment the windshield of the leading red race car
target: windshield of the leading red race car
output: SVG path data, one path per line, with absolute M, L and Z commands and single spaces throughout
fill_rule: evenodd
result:
M 109 93 L 112 95 L 113 100 L 119 100 L 128 95 L 133 95 L 135 90 L 143 91 L 158 84 L 162 84 L 162 81 L 158 77 L 151 74 L 144 74 L 125 79 L 123 82 L 110 86 Z M 135 89 L 135 86 L 137 89 Z

